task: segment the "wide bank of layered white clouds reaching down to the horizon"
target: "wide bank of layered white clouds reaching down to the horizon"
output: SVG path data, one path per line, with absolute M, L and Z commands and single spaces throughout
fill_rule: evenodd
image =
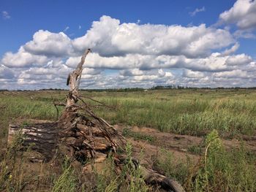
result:
M 86 57 L 81 88 L 256 83 L 255 61 L 235 54 L 239 42 L 228 28 L 121 23 L 102 16 L 82 37 L 39 30 L 16 53 L 5 53 L 0 88 L 7 82 L 18 89 L 67 88 L 67 75 L 88 47 L 93 53 Z

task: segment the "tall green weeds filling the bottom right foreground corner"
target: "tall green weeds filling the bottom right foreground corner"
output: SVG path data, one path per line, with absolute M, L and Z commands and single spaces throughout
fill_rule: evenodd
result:
M 227 153 L 216 130 L 206 137 L 204 157 L 187 178 L 187 191 L 255 191 L 255 157 L 244 147 Z

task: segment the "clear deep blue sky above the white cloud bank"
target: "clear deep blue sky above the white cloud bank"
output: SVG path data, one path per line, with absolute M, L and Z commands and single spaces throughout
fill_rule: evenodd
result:
M 12 1 L 1 0 L 1 11 L 7 11 L 11 18 L 0 20 L 0 54 L 16 51 L 31 40 L 39 29 L 52 32 L 63 31 L 80 37 L 102 15 L 118 18 L 121 22 L 137 22 L 187 26 L 189 23 L 211 26 L 217 22 L 221 12 L 232 7 L 234 1 Z M 205 7 L 194 17 L 189 12 Z M 81 30 L 78 27 L 81 26 Z

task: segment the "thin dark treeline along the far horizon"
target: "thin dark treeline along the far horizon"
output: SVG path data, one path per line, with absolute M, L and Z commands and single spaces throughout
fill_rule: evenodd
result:
M 217 88 L 208 88 L 208 87 L 202 87 L 202 88 L 197 88 L 197 87 L 187 87 L 187 86 L 181 86 L 181 85 L 157 85 L 152 88 L 106 88 L 106 89 L 80 89 L 80 91 L 106 91 L 106 92 L 129 92 L 129 91 L 148 91 L 148 90 L 167 90 L 167 89 L 209 89 L 209 90 L 216 90 L 216 89 L 249 89 L 249 90 L 256 90 L 256 87 L 250 87 L 250 88 L 241 88 L 241 87 L 230 87 L 230 88 L 225 88 L 225 87 L 217 87 Z M 3 91 L 10 91 L 7 89 L 0 89 L 0 92 Z M 12 91 L 33 91 L 33 90 L 12 90 Z M 36 91 L 36 90 L 34 90 Z M 67 89 L 61 89 L 61 88 L 48 88 L 48 89 L 39 89 L 37 91 L 68 91 Z

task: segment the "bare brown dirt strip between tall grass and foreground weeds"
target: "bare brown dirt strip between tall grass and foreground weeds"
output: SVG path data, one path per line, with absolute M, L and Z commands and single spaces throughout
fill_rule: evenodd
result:
M 132 143 L 135 153 L 144 151 L 145 164 L 151 164 L 152 158 L 159 154 L 159 151 L 165 149 L 167 152 L 173 153 L 177 161 L 185 161 L 188 157 L 190 160 L 197 162 L 200 158 L 200 153 L 203 153 L 203 137 L 194 137 L 189 135 L 170 134 L 158 131 L 154 128 L 139 128 L 138 126 L 115 126 L 118 131 L 124 131 L 127 128 L 132 134 L 143 135 L 143 137 L 154 138 L 154 141 L 148 142 L 146 139 L 135 139 L 135 137 L 128 137 L 129 142 Z M 238 139 L 222 139 L 223 145 L 227 150 L 241 145 Z M 244 147 L 256 153 L 256 139 L 249 138 L 243 141 Z

